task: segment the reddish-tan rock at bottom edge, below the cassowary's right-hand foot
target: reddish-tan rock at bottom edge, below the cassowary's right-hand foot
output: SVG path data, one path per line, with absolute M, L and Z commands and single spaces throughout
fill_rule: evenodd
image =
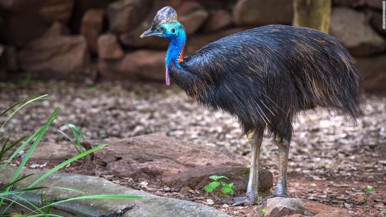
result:
M 329 207 L 322 203 L 302 198 L 274 197 L 268 199 L 265 203 L 255 209 L 255 216 L 261 216 L 262 209 L 265 209 L 264 217 L 350 216 L 348 212 L 339 208 Z

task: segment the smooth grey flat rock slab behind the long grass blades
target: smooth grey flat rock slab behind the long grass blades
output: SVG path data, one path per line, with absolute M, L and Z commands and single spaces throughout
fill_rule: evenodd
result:
M 13 176 L 16 167 L 8 166 L 2 171 L 0 182 L 8 183 Z M 42 176 L 45 172 L 41 170 L 23 169 L 21 174 L 34 175 L 24 179 L 17 184 L 17 189 L 25 188 L 30 183 Z M 106 179 L 83 176 L 75 174 L 67 174 L 55 172 L 49 177 L 41 181 L 37 186 L 56 186 L 67 187 L 84 192 L 84 194 L 73 191 L 65 191 L 57 188 L 45 188 L 44 193 L 46 198 L 53 196 L 53 199 L 64 199 L 76 196 L 94 195 L 94 194 L 125 194 L 125 195 L 141 195 L 143 199 L 84 199 L 74 200 L 70 202 L 60 203 L 55 205 L 56 210 L 63 216 L 100 216 L 109 213 L 114 213 L 117 210 L 122 210 L 125 207 L 134 205 L 134 208 L 125 212 L 122 216 L 229 216 L 215 208 L 179 199 L 156 196 L 144 191 L 133 190 L 118 184 L 114 184 Z M 23 198 L 35 203 L 40 203 L 41 191 L 26 192 Z M 74 215 L 75 213 L 75 215 Z

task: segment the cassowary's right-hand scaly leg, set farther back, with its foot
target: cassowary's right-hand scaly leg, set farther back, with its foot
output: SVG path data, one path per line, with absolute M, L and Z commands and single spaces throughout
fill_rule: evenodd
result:
M 288 152 L 289 143 L 288 139 L 283 139 L 275 135 L 275 143 L 279 151 L 279 176 L 277 178 L 275 193 L 271 196 L 267 196 L 261 200 L 261 203 L 265 200 L 273 197 L 288 197 L 287 194 L 287 166 L 288 166 Z

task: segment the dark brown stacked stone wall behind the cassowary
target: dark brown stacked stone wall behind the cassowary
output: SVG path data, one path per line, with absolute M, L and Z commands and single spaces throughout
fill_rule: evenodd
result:
M 223 36 L 291 25 L 289 0 L 0 0 L 0 79 L 35 77 L 164 80 L 167 41 L 139 36 L 173 7 L 185 26 L 185 55 Z M 386 90 L 386 31 L 379 0 L 333 0 L 330 34 L 355 57 L 365 89 Z

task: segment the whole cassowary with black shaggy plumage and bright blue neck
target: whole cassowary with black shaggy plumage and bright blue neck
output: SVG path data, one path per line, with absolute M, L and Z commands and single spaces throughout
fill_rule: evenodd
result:
M 142 37 L 169 40 L 169 77 L 187 95 L 238 120 L 251 145 L 246 195 L 221 200 L 233 205 L 258 202 L 259 153 L 263 133 L 274 137 L 279 152 L 278 180 L 270 197 L 288 197 L 288 149 L 300 112 L 324 107 L 356 120 L 363 114 L 361 74 L 334 37 L 322 32 L 269 25 L 221 38 L 183 57 L 184 27 L 171 7 L 156 14 Z

